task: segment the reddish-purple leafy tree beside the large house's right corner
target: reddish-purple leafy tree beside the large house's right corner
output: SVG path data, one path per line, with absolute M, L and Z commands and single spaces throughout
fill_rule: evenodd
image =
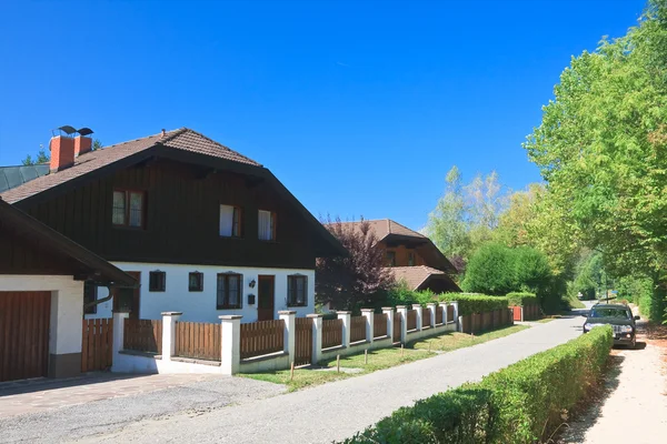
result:
M 385 255 L 367 221 L 342 223 L 339 218 L 321 221 L 349 252 L 347 258 L 321 258 L 316 264 L 315 293 L 319 304 L 334 310 L 372 306 L 395 284 L 385 268 Z

